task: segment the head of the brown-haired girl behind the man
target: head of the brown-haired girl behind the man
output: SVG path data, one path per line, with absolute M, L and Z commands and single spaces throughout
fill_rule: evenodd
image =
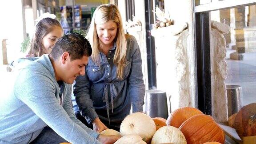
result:
M 63 36 L 63 29 L 58 20 L 43 18 L 36 24 L 36 30 L 30 42 L 27 56 L 50 54 L 56 41 Z

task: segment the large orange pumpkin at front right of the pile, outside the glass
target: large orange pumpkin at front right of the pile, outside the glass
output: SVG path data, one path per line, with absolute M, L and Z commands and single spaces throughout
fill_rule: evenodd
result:
M 199 114 L 184 121 L 180 131 L 186 137 L 188 144 L 203 144 L 216 141 L 224 144 L 225 134 L 212 116 Z

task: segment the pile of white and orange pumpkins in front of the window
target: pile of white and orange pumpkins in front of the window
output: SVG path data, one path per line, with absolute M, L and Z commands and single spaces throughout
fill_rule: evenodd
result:
M 251 120 L 252 121 L 252 120 Z M 251 122 L 252 123 L 252 122 Z M 224 144 L 224 131 L 212 118 L 196 108 L 178 108 L 168 119 L 135 112 L 125 117 L 115 144 Z

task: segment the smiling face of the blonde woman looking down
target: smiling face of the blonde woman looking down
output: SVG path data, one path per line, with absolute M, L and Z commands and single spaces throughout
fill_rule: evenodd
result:
M 104 24 L 96 24 L 96 31 L 101 44 L 113 45 L 117 32 L 117 25 L 114 21 L 109 20 Z

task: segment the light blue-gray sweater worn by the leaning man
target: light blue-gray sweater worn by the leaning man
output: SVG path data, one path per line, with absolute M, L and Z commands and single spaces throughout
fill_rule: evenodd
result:
M 100 143 L 99 133 L 74 115 L 71 84 L 64 83 L 60 101 L 48 55 L 19 59 L 13 65 L 17 70 L 12 92 L 0 96 L 0 144 L 27 144 L 47 125 L 73 144 Z

